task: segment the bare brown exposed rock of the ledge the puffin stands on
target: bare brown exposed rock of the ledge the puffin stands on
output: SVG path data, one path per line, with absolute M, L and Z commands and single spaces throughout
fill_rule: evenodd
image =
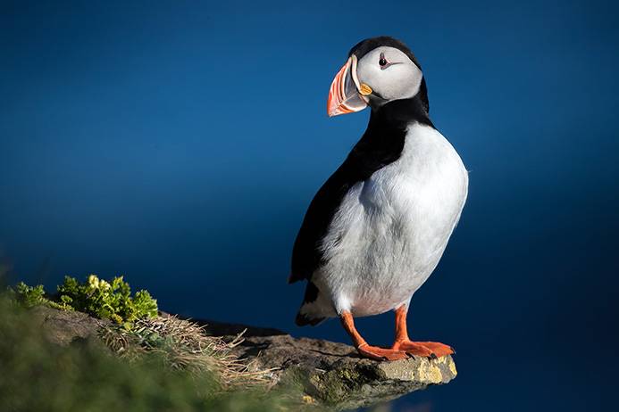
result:
M 109 325 L 79 312 L 36 311 L 50 340 L 63 345 L 75 339 L 96 338 L 99 328 Z M 456 364 L 450 356 L 377 362 L 359 358 L 356 350 L 344 343 L 293 338 L 277 329 L 193 321 L 205 325 L 208 334 L 229 342 L 244 333 L 244 341 L 233 348 L 238 358 L 247 359 L 255 371 L 270 369 L 273 386 L 301 385 L 307 403 L 330 408 L 365 407 L 456 377 Z

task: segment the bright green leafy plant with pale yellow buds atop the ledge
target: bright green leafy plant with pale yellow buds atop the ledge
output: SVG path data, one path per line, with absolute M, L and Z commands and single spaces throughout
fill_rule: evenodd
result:
M 43 285 L 29 286 L 21 282 L 12 291 L 14 301 L 22 306 L 45 305 L 55 309 L 79 310 L 94 317 L 112 319 L 118 324 L 130 326 L 140 318 L 157 316 L 157 301 L 147 291 L 138 291 L 131 296 L 130 285 L 122 276 L 112 282 L 88 276 L 86 282 L 64 276 L 57 293 L 47 296 Z

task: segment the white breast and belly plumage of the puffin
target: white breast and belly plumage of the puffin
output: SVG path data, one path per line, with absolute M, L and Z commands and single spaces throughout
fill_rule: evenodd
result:
M 400 158 L 350 189 L 323 239 L 326 264 L 313 276 L 330 299 L 323 315 L 375 315 L 409 301 L 439 263 L 467 187 L 447 139 L 411 125 Z

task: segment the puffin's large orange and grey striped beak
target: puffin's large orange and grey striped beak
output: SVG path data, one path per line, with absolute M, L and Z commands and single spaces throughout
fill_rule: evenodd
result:
M 327 101 L 329 116 L 364 110 L 367 102 L 359 93 L 360 90 L 359 79 L 356 77 L 356 55 L 352 54 L 331 83 Z

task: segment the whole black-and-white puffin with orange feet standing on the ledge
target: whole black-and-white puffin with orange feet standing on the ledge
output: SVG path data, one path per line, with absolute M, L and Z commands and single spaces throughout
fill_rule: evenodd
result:
M 393 37 L 355 45 L 330 85 L 330 117 L 366 107 L 364 135 L 314 195 L 293 246 L 289 283 L 306 281 L 296 324 L 339 317 L 363 358 L 452 354 L 444 343 L 412 341 L 406 315 L 460 218 L 468 172 L 430 119 L 421 65 Z M 355 317 L 390 310 L 393 345 L 370 345 Z

